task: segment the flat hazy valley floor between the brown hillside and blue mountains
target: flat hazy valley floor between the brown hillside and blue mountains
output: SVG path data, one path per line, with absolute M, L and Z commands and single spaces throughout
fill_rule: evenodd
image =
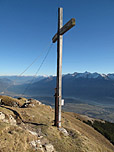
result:
M 35 96 L 33 98 L 41 100 L 44 104 L 54 108 L 54 97 Z M 64 98 L 64 100 L 63 111 L 79 113 L 114 123 L 114 104 L 101 104 L 95 101 L 84 101 L 76 98 Z

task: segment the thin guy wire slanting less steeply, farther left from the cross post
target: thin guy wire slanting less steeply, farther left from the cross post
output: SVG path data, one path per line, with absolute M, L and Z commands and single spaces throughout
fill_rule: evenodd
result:
M 50 44 L 51 45 L 51 44 Z M 49 47 L 50 47 L 50 45 L 49 45 Z M 44 50 L 47 50 L 47 49 L 44 49 Z M 41 52 L 41 54 L 40 55 L 38 55 L 34 60 L 33 60 L 33 62 L 23 71 L 23 72 L 21 72 L 19 75 L 17 75 L 17 76 L 19 76 L 19 77 L 21 77 L 41 56 L 42 56 L 42 54 L 44 53 L 44 51 L 43 52 Z M 16 82 L 16 80 L 14 81 L 14 83 Z M 2 92 L 0 92 L 0 94 L 4 94 L 5 92 L 6 92 L 6 90 L 11 86 L 12 84 L 10 84 L 10 85 L 8 85 L 8 87 L 6 87 Z

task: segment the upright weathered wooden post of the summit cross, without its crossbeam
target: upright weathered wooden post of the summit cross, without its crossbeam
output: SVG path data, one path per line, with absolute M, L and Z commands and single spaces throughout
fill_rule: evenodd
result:
M 61 127 L 61 98 L 62 98 L 62 43 L 63 36 L 60 35 L 60 29 L 63 26 L 63 8 L 58 8 L 58 33 L 57 33 L 57 88 L 56 88 L 56 118 L 55 125 Z

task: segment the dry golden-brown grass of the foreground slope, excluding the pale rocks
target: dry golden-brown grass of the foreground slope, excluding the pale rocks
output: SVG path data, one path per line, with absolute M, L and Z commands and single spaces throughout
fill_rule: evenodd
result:
M 6 109 L 8 108 L 8 109 Z M 15 110 L 19 117 L 15 117 Z M 17 126 L 11 126 L 0 122 L 0 151 L 27 152 L 33 151 L 30 141 L 36 137 L 26 129 L 37 132 L 41 128 L 43 135 L 52 143 L 58 152 L 113 152 L 114 146 L 92 127 L 77 119 L 77 114 L 63 112 L 62 125 L 67 129 L 70 136 L 64 137 L 53 126 L 54 110 L 46 105 L 36 105 L 29 108 L 5 106 L 0 111 L 13 115 L 18 119 Z M 22 119 L 19 121 L 19 119 Z M 23 123 L 22 123 L 23 121 Z M 20 123 L 21 122 L 21 123 Z

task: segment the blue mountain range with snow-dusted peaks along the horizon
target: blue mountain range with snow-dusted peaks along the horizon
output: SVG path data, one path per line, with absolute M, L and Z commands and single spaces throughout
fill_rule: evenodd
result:
M 17 82 L 16 79 L 13 79 L 13 77 L 7 77 L 7 81 L 8 79 L 10 81 L 10 87 L 7 90 L 10 92 L 14 92 L 16 94 L 23 94 L 24 92 L 25 95 L 31 96 L 54 95 L 54 88 L 56 87 L 56 76 L 40 76 L 34 79 L 32 83 L 31 80 L 33 77 L 18 77 Z M 5 81 L 5 78 L 0 79 L 0 82 L 2 80 L 6 85 L 7 81 Z M 64 74 L 62 80 L 64 97 L 76 97 L 87 100 L 94 99 L 100 101 L 102 99 L 102 102 L 113 102 L 114 74 L 75 72 L 73 74 Z

